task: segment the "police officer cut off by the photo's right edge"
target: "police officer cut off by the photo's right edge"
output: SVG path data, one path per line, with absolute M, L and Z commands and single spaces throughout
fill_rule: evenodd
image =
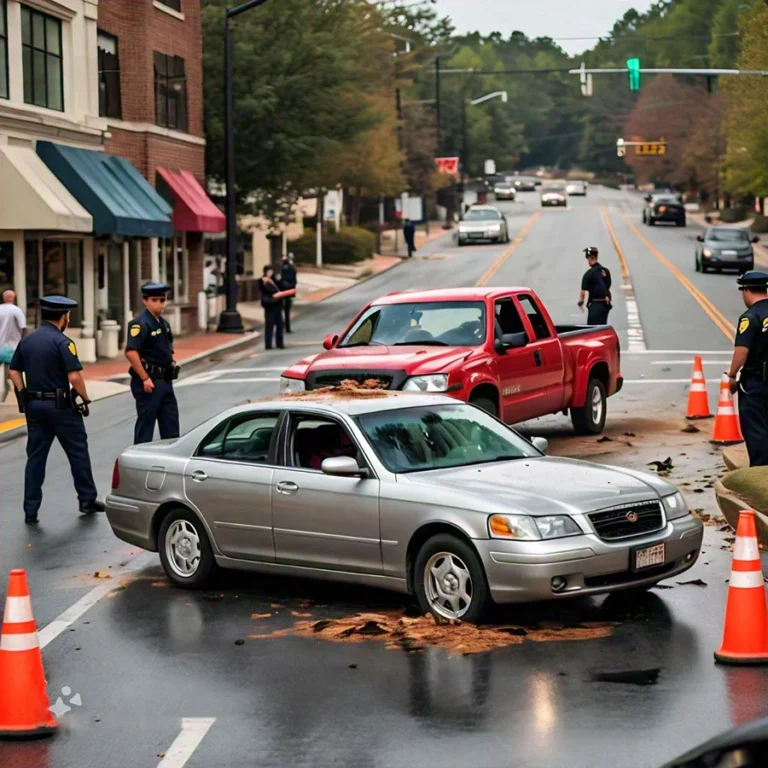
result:
M 739 318 L 728 378 L 731 391 L 739 392 L 739 422 L 749 465 L 764 467 L 768 466 L 768 273 L 746 272 L 737 282 L 747 311 Z

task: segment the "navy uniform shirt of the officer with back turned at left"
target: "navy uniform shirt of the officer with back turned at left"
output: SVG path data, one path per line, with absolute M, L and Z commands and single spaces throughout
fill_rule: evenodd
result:
M 68 373 L 82 371 L 77 347 L 53 323 L 44 321 L 16 347 L 11 370 L 26 374 L 27 389 L 32 392 L 51 392 L 69 389 Z

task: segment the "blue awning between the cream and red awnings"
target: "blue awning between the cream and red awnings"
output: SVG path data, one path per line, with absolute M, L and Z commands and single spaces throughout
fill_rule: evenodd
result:
M 173 236 L 173 209 L 130 160 L 50 141 L 38 141 L 37 154 L 93 216 L 95 234 Z

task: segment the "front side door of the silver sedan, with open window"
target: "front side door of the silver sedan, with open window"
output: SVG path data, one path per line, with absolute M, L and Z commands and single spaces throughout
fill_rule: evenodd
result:
M 320 470 L 330 456 L 354 456 L 364 464 L 350 430 L 336 418 L 297 410 L 284 435 L 272 493 L 277 562 L 382 573 L 378 479 Z

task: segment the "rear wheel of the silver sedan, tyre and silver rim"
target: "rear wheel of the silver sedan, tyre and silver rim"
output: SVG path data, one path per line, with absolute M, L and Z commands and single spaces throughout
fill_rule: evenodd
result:
M 173 544 L 177 535 L 180 539 Z M 157 551 L 168 578 L 182 589 L 203 589 L 217 570 L 205 526 L 194 512 L 183 507 L 171 510 L 163 520 L 157 535 Z M 186 552 L 191 557 L 185 558 Z M 195 552 L 197 562 L 193 567 L 190 559 L 194 560 Z

